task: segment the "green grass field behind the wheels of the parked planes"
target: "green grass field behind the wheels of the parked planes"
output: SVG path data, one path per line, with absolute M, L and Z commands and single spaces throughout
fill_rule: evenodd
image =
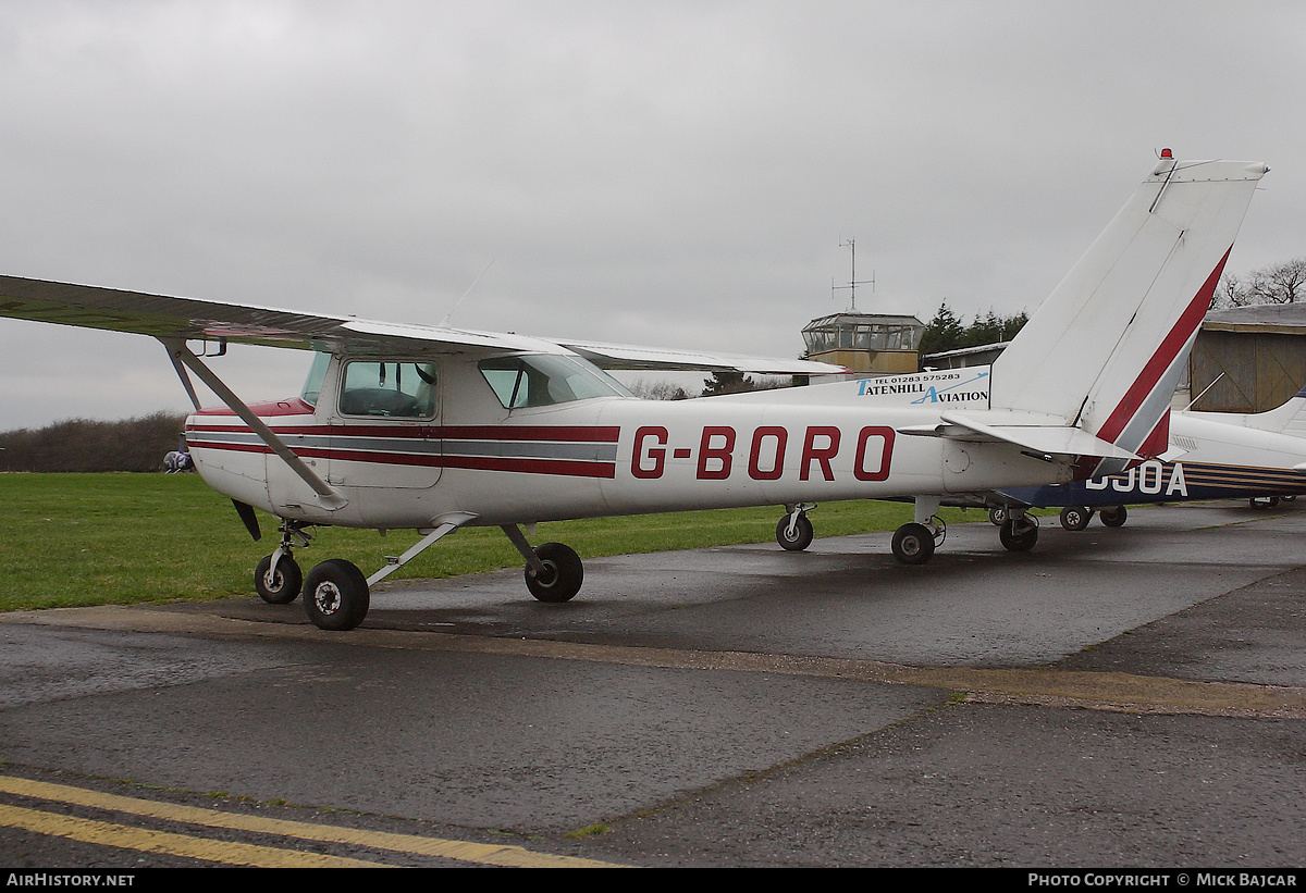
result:
M 679 512 L 541 524 L 530 540 L 556 540 L 581 557 L 772 542 L 780 507 Z M 978 521 L 946 509 L 949 524 Z M 818 537 L 893 530 L 912 520 L 905 503 L 827 503 L 812 513 Z M 259 559 L 277 546 L 276 521 L 260 514 L 255 543 L 231 507 L 197 475 L 0 475 L 0 611 L 206 601 L 253 593 Z M 413 531 L 313 527 L 296 551 L 304 571 L 328 557 L 364 574 L 417 542 Z M 473 527 L 440 540 L 390 580 L 452 577 L 520 567 L 498 527 Z

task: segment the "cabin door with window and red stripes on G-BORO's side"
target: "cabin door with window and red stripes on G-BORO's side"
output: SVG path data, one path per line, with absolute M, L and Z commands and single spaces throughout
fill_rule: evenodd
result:
M 431 487 L 440 479 L 435 363 L 343 360 L 330 414 L 328 482 Z

